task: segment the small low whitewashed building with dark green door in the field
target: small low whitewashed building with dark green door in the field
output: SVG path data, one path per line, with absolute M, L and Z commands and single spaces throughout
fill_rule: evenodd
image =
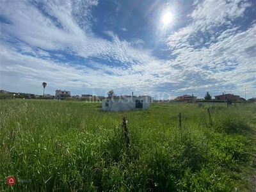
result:
M 129 111 L 149 109 L 150 96 L 118 96 L 106 97 L 102 100 L 103 111 Z

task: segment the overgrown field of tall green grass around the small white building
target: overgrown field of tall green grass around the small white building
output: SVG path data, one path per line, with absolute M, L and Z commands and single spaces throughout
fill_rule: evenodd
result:
M 100 106 L 1 100 L 0 191 L 255 190 L 255 104 L 154 103 L 122 113 Z

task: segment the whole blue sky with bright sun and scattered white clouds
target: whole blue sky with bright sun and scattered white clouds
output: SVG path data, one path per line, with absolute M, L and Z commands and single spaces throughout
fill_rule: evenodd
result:
M 256 97 L 254 0 L 0 0 L 0 90 Z

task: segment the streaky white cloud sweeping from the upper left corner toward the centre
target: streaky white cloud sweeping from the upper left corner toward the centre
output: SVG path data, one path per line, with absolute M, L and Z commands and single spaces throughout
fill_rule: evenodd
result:
M 3 24 L 3 33 L 15 36 L 33 47 L 51 51 L 69 50 L 84 58 L 113 57 L 122 63 L 150 60 L 148 51 L 134 49 L 132 44 L 119 40 L 118 36 L 111 31 L 107 33 L 113 37 L 113 42 L 79 28 L 72 17 L 74 8 L 70 1 L 49 1 L 44 4 L 44 12 L 54 17 L 54 20 L 45 17 L 28 2 L 19 1 L 19 3 L 12 4 L 10 1 L 4 6 L 6 9 L 3 9 L 2 13 L 11 20 L 12 24 Z M 15 10 L 20 10 L 20 12 L 15 12 Z M 86 24 L 88 20 L 84 21 L 84 26 Z

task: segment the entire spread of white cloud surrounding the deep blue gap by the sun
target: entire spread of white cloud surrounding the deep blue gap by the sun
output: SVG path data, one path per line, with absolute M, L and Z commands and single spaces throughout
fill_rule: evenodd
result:
M 1 23 L 0 86 L 8 89 L 12 82 L 13 88 L 22 84 L 23 89 L 29 89 L 23 86 L 29 84 L 37 90 L 38 84 L 40 93 L 42 81 L 47 81 L 52 92 L 56 88 L 114 88 L 118 92 L 153 93 L 152 90 L 158 92 L 157 87 L 161 87 L 179 94 L 210 88 L 214 92 L 225 88 L 239 91 L 246 84 L 253 94 L 255 25 L 240 29 L 233 23 L 243 17 L 250 3 L 195 3 L 196 8 L 189 15 L 191 23 L 166 40 L 170 60 L 154 56 L 140 38 L 121 40 L 113 31 L 105 31 L 111 40 L 95 35 L 91 10 L 97 4 L 44 1 L 38 8 L 29 1 L 0 1 L 0 12 L 10 21 Z M 77 56 L 82 61 L 70 61 L 68 56 Z M 112 65 L 106 64 L 111 62 Z

